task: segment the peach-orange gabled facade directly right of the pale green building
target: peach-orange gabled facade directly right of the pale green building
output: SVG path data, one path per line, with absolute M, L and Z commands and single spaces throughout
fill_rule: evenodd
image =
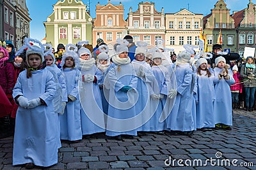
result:
M 124 20 L 124 6 L 111 4 L 96 5 L 96 18 L 93 19 L 93 46 L 97 39 L 102 38 L 104 43 L 111 43 L 116 39 L 123 39 L 127 34 L 127 22 Z

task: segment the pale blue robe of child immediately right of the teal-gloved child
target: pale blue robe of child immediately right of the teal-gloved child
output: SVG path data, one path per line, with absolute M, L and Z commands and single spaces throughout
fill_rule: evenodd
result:
M 132 60 L 131 63 L 134 66 L 137 76 L 140 67 L 143 67 L 143 71 L 145 72 L 144 77 L 138 76 L 137 90 L 139 98 L 135 108 L 137 120 L 141 121 L 141 126 L 137 129 L 137 131 L 147 131 L 143 124 L 145 124 L 150 117 L 152 117 L 152 114 L 150 114 L 150 94 L 152 94 L 150 83 L 155 80 L 155 77 L 150 65 L 147 62 Z

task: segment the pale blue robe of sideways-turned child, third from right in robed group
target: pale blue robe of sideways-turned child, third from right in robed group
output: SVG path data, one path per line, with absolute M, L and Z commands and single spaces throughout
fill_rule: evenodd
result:
M 193 71 L 188 63 L 176 66 L 177 96 L 172 112 L 168 117 L 167 128 L 172 131 L 194 131 L 193 113 Z

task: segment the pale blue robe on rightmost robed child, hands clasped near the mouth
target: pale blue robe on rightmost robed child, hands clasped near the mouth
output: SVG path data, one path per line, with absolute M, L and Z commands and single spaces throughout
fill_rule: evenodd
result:
M 233 72 L 228 70 L 230 79 L 225 80 L 221 78 L 218 79 L 218 74 L 220 74 L 221 69 L 215 67 L 213 69 L 216 78 L 216 84 L 214 87 L 214 92 L 216 99 L 214 101 L 214 116 L 215 124 L 225 124 L 232 125 L 232 97 L 230 85 L 234 84 L 236 81 L 233 78 Z

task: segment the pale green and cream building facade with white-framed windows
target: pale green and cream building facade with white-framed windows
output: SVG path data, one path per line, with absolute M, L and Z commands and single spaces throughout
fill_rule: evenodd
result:
M 78 41 L 92 42 L 92 17 L 82 1 L 64 0 L 53 5 L 53 12 L 45 25 L 46 42 L 57 48 Z

